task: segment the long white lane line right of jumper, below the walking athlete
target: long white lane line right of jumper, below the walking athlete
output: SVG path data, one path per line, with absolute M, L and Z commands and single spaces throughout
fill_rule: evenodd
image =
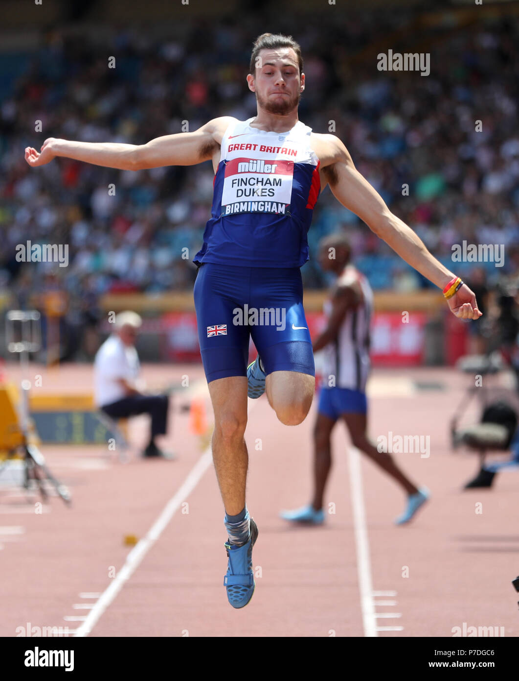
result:
M 369 560 L 369 541 L 367 538 L 366 514 L 362 487 L 361 457 L 356 447 L 348 448 L 350 469 L 350 490 L 352 494 L 353 522 L 357 558 L 358 587 L 361 592 L 361 610 L 364 635 L 376 637 L 375 605 L 373 603 L 373 584 Z

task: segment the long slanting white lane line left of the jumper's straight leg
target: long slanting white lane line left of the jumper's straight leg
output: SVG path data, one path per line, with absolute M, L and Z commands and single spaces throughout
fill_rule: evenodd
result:
M 188 498 L 192 490 L 195 489 L 205 471 L 207 471 L 207 469 L 210 467 L 211 463 L 212 452 L 211 445 L 209 445 L 195 466 L 191 469 L 190 473 L 188 473 L 188 477 L 186 477 L 178 492 L 176 492 L 176 494 L 174 494 L 167 502 L 163 511 L 161 512 L 161 515 L 158 516 L 150 530 L 148 530 L 146 537 L 144 537 L 144 539 L 140 539 L 131 552 L 129 552 L 126 560 L 124 561 L 124 565 L 117 573 L 116 577 L 114 577 L 110 586 L 103 591 L 101 597 L 95 603 L 93 609 L 90 610 L 90 614 L 88 614 L 85 622 L 76 631 L 76 637 L 88 636 L 97 622 L 99 622 L 99 618 L 101 618 L 101 615 L 103 612 L 105 612 L 110 603 L 114 601 L 115 597 L 118 595 L 118 592 L 120 592 L 122 586 L 124 586 L 124 582 L 127 582 L 131 575 L 133 575 L 141 563 L 141 560 L 144 558 L 144 556 L 146 556 L 150 548 L 152 548 L 154 541 L 161 536 L 164 528 L 167 526 L 171 518 L 173 518 L 175 512 L 178 510 L 182 502 L 186 501 L 186 498 Z

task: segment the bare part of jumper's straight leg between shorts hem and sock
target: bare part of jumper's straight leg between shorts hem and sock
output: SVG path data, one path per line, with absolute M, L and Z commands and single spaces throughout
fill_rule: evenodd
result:
M 209 392 L 214 409 L 214 469 L 225 511 L 229 516 L 236 516 L 245 507 L 247 379 L 231 376 L 211 381 Z

